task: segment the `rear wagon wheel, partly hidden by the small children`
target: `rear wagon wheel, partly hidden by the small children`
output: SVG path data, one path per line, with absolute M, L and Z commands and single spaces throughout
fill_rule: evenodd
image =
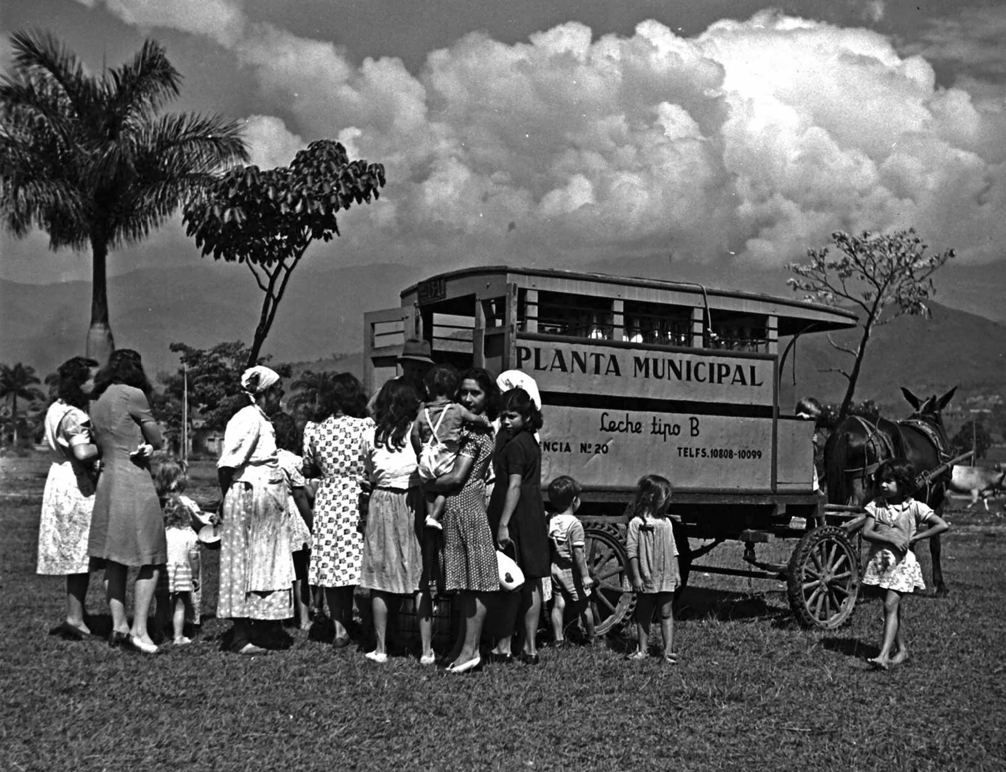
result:
M 629 581 L 629 557 L 618 528 L 608 524 L 584 529 L 586 568 L 597 582 L 592 595 L 596 608 L 595 630 L 604 635 L 620 629 L 636 606 Z

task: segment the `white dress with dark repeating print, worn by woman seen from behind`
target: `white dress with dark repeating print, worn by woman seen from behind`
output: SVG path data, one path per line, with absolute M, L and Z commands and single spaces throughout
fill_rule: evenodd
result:
M 333 415 L 304 427 L 304 474 L 321 477 L 315 495 L 314 535 L 308 581 L 322 587 L 359 584 L 363 562 L 360 444 L 370 418 Z

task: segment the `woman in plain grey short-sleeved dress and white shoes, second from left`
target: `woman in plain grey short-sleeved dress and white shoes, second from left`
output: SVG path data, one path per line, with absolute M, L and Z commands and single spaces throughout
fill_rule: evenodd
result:
M 118 349 L 99 372 L 98 399 L 91 420 L 102 455 L 88 551 L 106 561 L 112 611 L 109 645 L 144 653 L 158 649 L 147 632 L 147 613 L 160 567 L 168 559 L 164 519 L 150 476 L 150 457 L 161 446 L 161 431 L 150 412 L 150 382 L 140 355 Z M 126 616 L 126 579 L 138 567 L 133 624 Z

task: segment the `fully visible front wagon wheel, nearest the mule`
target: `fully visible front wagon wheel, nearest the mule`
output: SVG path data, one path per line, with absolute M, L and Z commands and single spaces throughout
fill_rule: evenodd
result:
M 805 534 L 790 558 L 787 595 L 805 627 L 834 629 L 856 607 L 859 553 L 835 526 Z

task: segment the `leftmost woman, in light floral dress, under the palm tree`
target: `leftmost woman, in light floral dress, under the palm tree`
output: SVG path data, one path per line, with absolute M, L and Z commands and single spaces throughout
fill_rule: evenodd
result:
M 73 357 L 57 371 L 59 396 L 45 413 L 45 441 L 52 465 L 45 478 L 38 524 L 38 573 L 66 577 L 66 618 L 51 634 L 78 640 L 91 633 L 85 622 L 88 595 L 88 535 L 95 507 L 98 447 L 88 417 L 88 395 L 98 362 Z

